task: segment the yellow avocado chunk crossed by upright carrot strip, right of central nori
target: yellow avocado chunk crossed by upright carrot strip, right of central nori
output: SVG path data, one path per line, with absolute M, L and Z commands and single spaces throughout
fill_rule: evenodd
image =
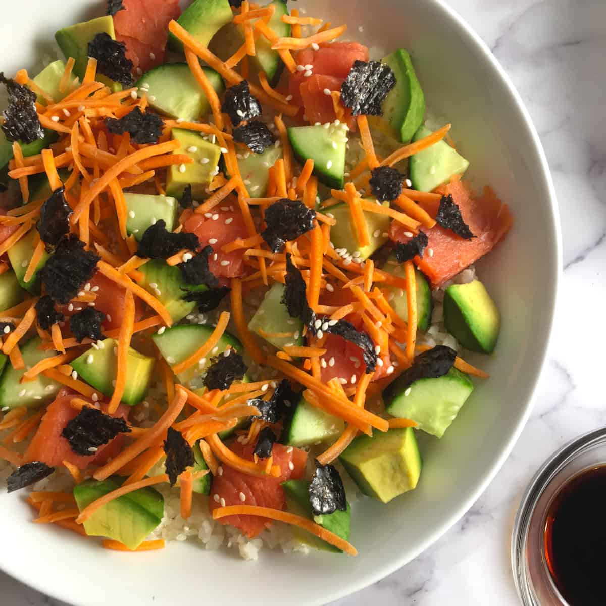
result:
M 375 203 L 375 200 L 370 199 Z M 384 206 L 389 206 L 389 202 L 383 202 Z M 360 246 L 356 238 L 356 230 L 351 218 L 348 204 L 335 204 L 328 209 L 328 214 L 333 215 L 336 225 L 330 230 L 330 241 L 336 249 L 345 248 L 349 253 L 360 253 L 359 258 L 367 259 L 375 251 L 379 250 L 388 241 L 388 231 L 391 219 L 387 215 L 378 213 L 369 213 L 363 211 L 366 228 L 368 230 L 368 240 L 370 244 Z

